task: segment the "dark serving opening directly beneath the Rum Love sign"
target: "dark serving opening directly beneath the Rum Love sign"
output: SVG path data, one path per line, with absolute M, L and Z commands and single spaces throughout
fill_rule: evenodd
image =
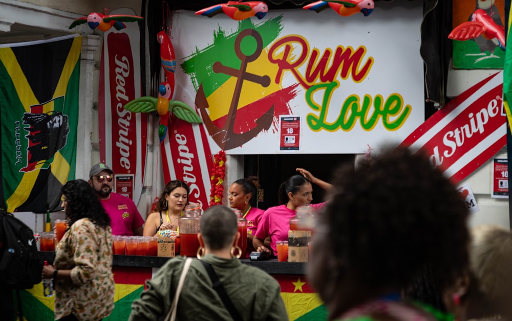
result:
M 333 172 L 342 164 L 354 164 L 354 154 L 280 154 L 245 155 L 244 177 L 256 175 L 263 189 L 263 201 L 258 208 L 266 210 L 279 205 L 278 190 L 288 177 L 298 174 L 297 167 L 311 172 L 315 177 L 330 182 Z M 313 203 L 324 200 L 327 193 L 313 185 Z

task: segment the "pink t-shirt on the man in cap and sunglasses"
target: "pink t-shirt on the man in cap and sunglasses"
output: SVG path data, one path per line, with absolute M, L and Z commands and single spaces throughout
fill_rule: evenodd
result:
M 130 198 L 110 193 L 109 199 L 100 199 L 100 202 L 110 216 L 112 235 L 132 236 L 133 230 L 144 224 L 144 219 Z

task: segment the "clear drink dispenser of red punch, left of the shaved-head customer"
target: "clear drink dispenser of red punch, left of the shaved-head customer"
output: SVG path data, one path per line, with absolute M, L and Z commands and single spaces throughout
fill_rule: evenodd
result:
M 199 249 L 199 222 L 201 220 L 201 204 L 189 203 L 185 213 L 179 218 L 180 226 L 180 255 L 195 257 Z

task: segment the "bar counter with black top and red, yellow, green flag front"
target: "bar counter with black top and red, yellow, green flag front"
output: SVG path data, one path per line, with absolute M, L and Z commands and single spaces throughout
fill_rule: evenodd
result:
M 53 252 L 41 252 L 43 260 L 53 262 Z M 125 321 L 131 305 L 144 289 L 144 282 L 173 258 L 114 255 L 113 268 L 116 293 L 112 314 L 104 320 Z M 309 287 L 305 277 L 307 263 L 241 260 L 271 274 L 281 285 L 281 296 L 290 320 L 325 320 L 326 311 L 318 295 Z M 53 320 L 53 297 L 42 295 L 42 284 L 22 290 L 23 314 L 26 320 Z

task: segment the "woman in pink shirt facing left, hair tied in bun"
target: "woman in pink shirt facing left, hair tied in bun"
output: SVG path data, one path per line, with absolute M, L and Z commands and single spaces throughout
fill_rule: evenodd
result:
M 251 206 L 251 201 L 256 199 L 257 189 L 261 188 L 260 179 L 257 176 L 249 176 L 235 180 L 229 187 L 229 207 L 242 212 L 242 216 L 247 220 L 247 258 L 251 251 L 252 238 L 256 233 L 258 223 L 263 216 L 263 210 Z M 255 202 L 252 202 L 253 204 Z M 270 239 L 266 242 L 270 244 Z

